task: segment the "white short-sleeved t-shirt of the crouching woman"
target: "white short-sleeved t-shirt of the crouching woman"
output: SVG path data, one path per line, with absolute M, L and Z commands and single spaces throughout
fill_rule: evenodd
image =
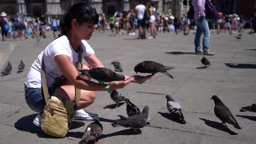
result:
M 80 46 L 83 49 L 82 57 L 88 57 L 95 52 L 87 41 L 82 40 Z M 31 88 L 42 87 L 41 83 L 41 61 L 44 55 L 44 64 L 46 71 L 46 81 L 48 87 L 55 87 L 56 81 L 63 77 L 61 70 L 57 67 L 54 57 L 58 55 L 66 55 L 70 58 L 71 62 L 77 67 L 78 53 L 75 52 L 69 43 L 66 35 L 62 35 L 60 38 L 55 39 L 50 43 L 44 51 L 42 51 L 37 57 L 36 61 L 32 64 L 30 71 L 27 74 L 25 86 Z

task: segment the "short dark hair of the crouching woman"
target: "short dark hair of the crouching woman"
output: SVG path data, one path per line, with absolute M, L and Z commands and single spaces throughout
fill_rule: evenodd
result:
M 98 14 L 95 8 L 86 3 L 77 3 L 69 8 L 60 21 L 61 35 L 67 35 L 71 30 L 71 21 L 75 19 L 79 24 L 84 22 L 96 25 L 98 23 Z

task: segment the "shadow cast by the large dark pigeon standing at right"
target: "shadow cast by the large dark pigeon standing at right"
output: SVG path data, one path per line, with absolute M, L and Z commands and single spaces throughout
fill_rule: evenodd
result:
M 202 121 L 205 122 L 206 125 L 208 125 L 209 127 L 212 127 L 214 129 L 218 129 L 218 130 L 222 130 L 226 133 L 229 133 L 230 135 L 237 135 L 237 133 L 235 133 L 234 131 L 230 130 L 228 127 L 225 127 L 223 124 L 218 123 L 218 122 L 214 122 L 205 118 L 199 118 Z

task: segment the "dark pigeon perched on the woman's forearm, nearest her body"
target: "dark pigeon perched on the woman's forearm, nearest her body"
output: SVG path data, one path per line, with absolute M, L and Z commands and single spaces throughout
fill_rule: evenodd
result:
M 100 83 L 125 80 L 124 75 L 115 73 L 108 68 L 92 68 L 90 70 L 79 71 L 81 72 L 81 74 L 79 74 L 80 76 L 86 75 L 88 77 L 91 77 L 92 79 L 97 80 Z

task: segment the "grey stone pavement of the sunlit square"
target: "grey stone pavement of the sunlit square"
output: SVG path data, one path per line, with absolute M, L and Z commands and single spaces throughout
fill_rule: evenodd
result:
M 202 56 L 194 55 L 194 31 L 184 36 L 159 33 L 157 39 L 138 40 L 137 35 L 106 34 L 95 32 L 89 44 L 107 68 L 119 61 L 124 74 L 134 75 L 133 67 L 145 60 L 175 67 L 164 74 L 156 74 L 142 85 L 131 83 L 119 92 L 139 106 L 149 105 L 150 125 L 137 135 L 130 129 L 110 125 L 118 115 L 126 115 L 126 105 L 113 109 L 114 102 L 107 92 L 96 92 L 95 103 L 86 108 L 96 112 L 103 124 L 100 143 L 255 143 L 256 113 L 240 112 L 243 106 L 256 103 L 256 35 L 248 30 L 241 40 L 228 33 L 211 33 L 210 50 L 215 56 L 207 56 L 212 65 L 201 69 Z M 40 51 L 53 40 L 28 38 L 26 41 L 0 41 L 1 71 L 10 61 L 11 75 L 0 77 L 0 143 L 78 143 L 86 126 L 91 122 L 73 121 L 72 128 L 63 139 L 45 135 L 33 125 L 36 112 L 30 110 L 24 99 L 24 81 L 31 64 Z M 26 64 L 22 73 L 16 73 L 20 60 Z M 145 75 L 145 74 L 142 74 Z M 187 124 L 179 124 L 168 115 L 166 94 L 179 101 Z M 212 95 L 218 95 L 229 107 L 242 127 L 225 128 L 214 115 Z

